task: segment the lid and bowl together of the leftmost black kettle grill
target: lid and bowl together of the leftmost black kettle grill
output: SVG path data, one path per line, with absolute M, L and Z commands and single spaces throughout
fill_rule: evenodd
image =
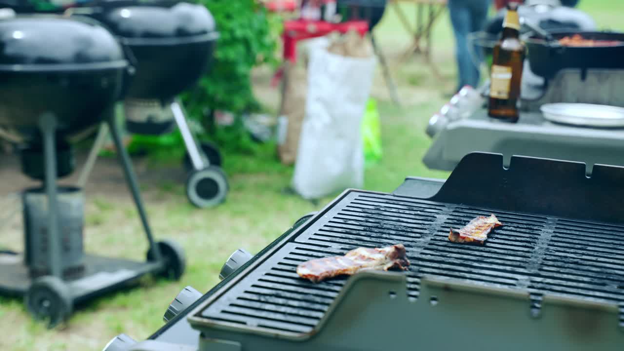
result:
M 39 119 L 49 113 L 59 142 L 78 139 L 120 98 L 128 66 L 115 37 L 90 19 L 3 19 L 0 136 L 40 144 Z

